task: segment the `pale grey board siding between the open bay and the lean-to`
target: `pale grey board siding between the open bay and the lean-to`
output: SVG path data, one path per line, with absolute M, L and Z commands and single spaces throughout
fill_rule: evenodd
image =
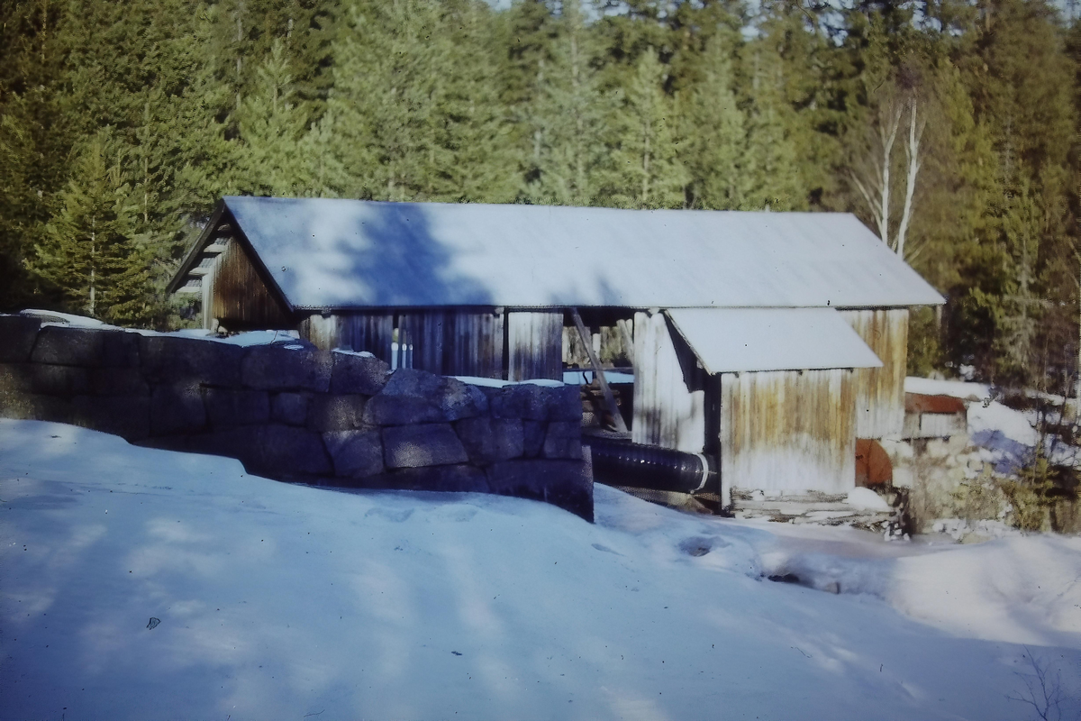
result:
M 706 393 L 691 390 L 664 313 L 635 313 L 631 440 L 686 453 L 706 444 Z

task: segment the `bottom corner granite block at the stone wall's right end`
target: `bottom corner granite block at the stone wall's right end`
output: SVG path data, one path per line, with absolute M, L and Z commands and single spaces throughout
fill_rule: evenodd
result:
M 506 460 L 486 472 L 492 493 L 544 500 L 593 520 L 593 479 L 582 460 Z

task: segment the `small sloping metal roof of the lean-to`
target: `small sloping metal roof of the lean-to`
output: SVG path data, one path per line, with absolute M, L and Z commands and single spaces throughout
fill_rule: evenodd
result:
M 831 308 L 677 308 L 667 312 L 709 373 L 882 365 Z

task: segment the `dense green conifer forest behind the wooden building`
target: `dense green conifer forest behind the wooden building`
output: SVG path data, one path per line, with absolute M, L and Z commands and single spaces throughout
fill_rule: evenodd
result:
M 8 0 L 0 310 L 185 323 L 225 195 L 855 213 L 909 373 L 1078 372 L 1081 21 L 1043 0 Z

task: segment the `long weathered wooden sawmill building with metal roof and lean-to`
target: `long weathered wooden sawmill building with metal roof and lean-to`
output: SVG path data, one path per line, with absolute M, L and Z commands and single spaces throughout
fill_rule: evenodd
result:
M 909 308 L 943 303 L 851 214 L 248 197 L 170 291 L 443 375 L 560 380 L 568 338 L 622 338 L 631 440 L 723 496 L 853 488 L 856 439 L 903 429 Z

